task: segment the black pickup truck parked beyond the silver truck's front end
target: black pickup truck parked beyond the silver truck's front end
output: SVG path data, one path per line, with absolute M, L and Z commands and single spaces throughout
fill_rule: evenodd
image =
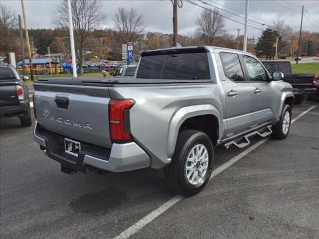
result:
M 261 61 L 267 70 L 272 73 L 280 71 L 284 73 L 284 81 L 294 88 L 295 104 L 303 103 L 306 94 L 316 92 L 317 77 L 314 73 L 292 73 L 290 61 Z

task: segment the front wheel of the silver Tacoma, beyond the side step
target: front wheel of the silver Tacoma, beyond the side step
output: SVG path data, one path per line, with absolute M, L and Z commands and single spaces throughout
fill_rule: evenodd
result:
M 290 131 L 291 125 L 291 107 L 284 105 L 283 113 L 278 123 L 273 126 L 272 137 L 276 139 L 285 139 Z

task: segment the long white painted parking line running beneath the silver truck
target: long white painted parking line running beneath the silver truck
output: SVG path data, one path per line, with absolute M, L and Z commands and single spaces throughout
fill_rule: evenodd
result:
M 308 112 L 310 112 L 312 109 L 314 109 L 317 105 L 310 107 L 308 110 L 304 111 L 303 113 L 299 114 L 296 118 L 294 118 L 291 123 L 295 122 L 296 120 L 300 119 L 301 117 L 303 117 L 304 115 L 306 115 Z M 226 163 L 222 164 L 221 166 L 219 166 L 218 168 L 216 168 L 215 170 L 212 171 L 211 176 L 209 178 L 212 179 L 215 176 L 217 176 L 219 173 L 221 173 L 222 171 L 224 171 L 226 168 L 230 167 L 231 165 L 233 165 L 234 163 L 236 163 L 239 159 L 241 159 L 242 157 L 244 157 L 245 155 L 247 155 L 248 153 L 250 153 L 251 151 L 253 151 L 255 148 L 259 147 L 260 145 L 262 145 L 263 143 L 267 142 L 270 139 L 270 137 L 268 138 L 263 138 L 262 140 L 258 141 L 257 143 L 255 143 L 253 146 L 247 148 L 246 150 L 244 150 L 243 152 L 241 152 L 240 154 L 236 155 L 235 157 L 231 158 L 230 160 L 228 160 Z M 149 213 L 148 215 L 146 215 L 144 218 L 142 218 L 140 221 L 136 222 L 135 224 L 133 224 L 131 227 L 129 227 L 128 229 L 126 229 L 125 231 L 123 231 L 122 233 L 120 233 L 118 236 L 114 237 L 113 239 L 128 239 L 130 238 L 133 234 L 137 233 L 138 231 L 140 231 L 142 228 L 144 228 L 147 224 L 149 224 L 150 222 L 152 222 L 154 219 L 156 219 L 158 216 L 160 216 L 161 214 L 163 214 L 167 209 L 171 208 L 172 206 L 174 206 L 176 203 L 178 203 L 180 200 L 182 200 L 184 197 L 180 196 L 180 195 L 176 195 L 174 197 L 172 197 L 171 199 L 169 199 L 167 202 L 165 202 L 164 204 L 162 204 L 159 208 L 155 209 L 153 212 Z

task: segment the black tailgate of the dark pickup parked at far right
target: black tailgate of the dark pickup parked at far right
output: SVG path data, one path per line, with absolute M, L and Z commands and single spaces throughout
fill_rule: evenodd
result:
M 308 73 L 285 73 L 284 81 L 290 83 L 293 88 L 313 88 L 314 74 Z

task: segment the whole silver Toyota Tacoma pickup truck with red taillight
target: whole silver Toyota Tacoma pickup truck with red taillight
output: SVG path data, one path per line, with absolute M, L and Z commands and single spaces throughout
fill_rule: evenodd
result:
M 215 146 L 287 137 L 294 94 L 283 77 L 232 49 L 145 51 L 131 79 L 34 82 L 34 139 L 62 172 L 164 169 L 171 190 L 193 195 Z

